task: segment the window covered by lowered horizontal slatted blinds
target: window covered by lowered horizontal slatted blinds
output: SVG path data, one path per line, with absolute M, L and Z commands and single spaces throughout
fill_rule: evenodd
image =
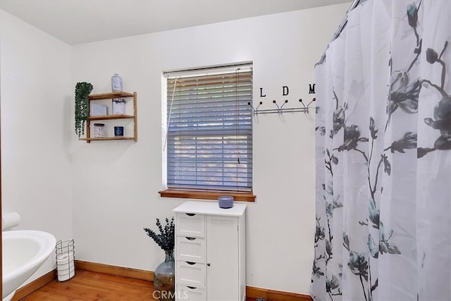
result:
M 252 64 L 165 73 L 169 189 L 252 191 Z

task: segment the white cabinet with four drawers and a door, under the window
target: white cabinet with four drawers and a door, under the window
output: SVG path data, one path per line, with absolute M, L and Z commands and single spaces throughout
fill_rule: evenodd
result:
M 185 202 L 175 212 L 176 300 L 246 300 L 246 204 Z

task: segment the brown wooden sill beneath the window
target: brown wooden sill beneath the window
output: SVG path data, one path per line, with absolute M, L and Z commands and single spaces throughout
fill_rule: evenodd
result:
M 183 199 L 214 199 L 223 195 L 230 195 L 238 202 L 255 202 L 257 196 L 252 192 L 221 192 L 221 191 L 202 191 L 202 190 L 175 190 L 166 189 L 159 191 L 161 197 L 178 197 Z

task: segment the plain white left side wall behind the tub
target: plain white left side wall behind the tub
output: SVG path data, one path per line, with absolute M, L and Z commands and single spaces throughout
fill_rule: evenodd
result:
M 0 11 L 2 211 L 72 238 L 71 47 Z M 54 269 L 54 256 L 30 281 Z

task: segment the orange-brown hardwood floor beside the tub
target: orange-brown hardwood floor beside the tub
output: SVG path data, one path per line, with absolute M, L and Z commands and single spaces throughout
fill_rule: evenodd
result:
M 158 300 L 154 283 L 135 278 L 77 270 L 69 281 L 51 281 L 23 301 L 147 301 Z M 255 299 L 248 298 L 247 301 Z

